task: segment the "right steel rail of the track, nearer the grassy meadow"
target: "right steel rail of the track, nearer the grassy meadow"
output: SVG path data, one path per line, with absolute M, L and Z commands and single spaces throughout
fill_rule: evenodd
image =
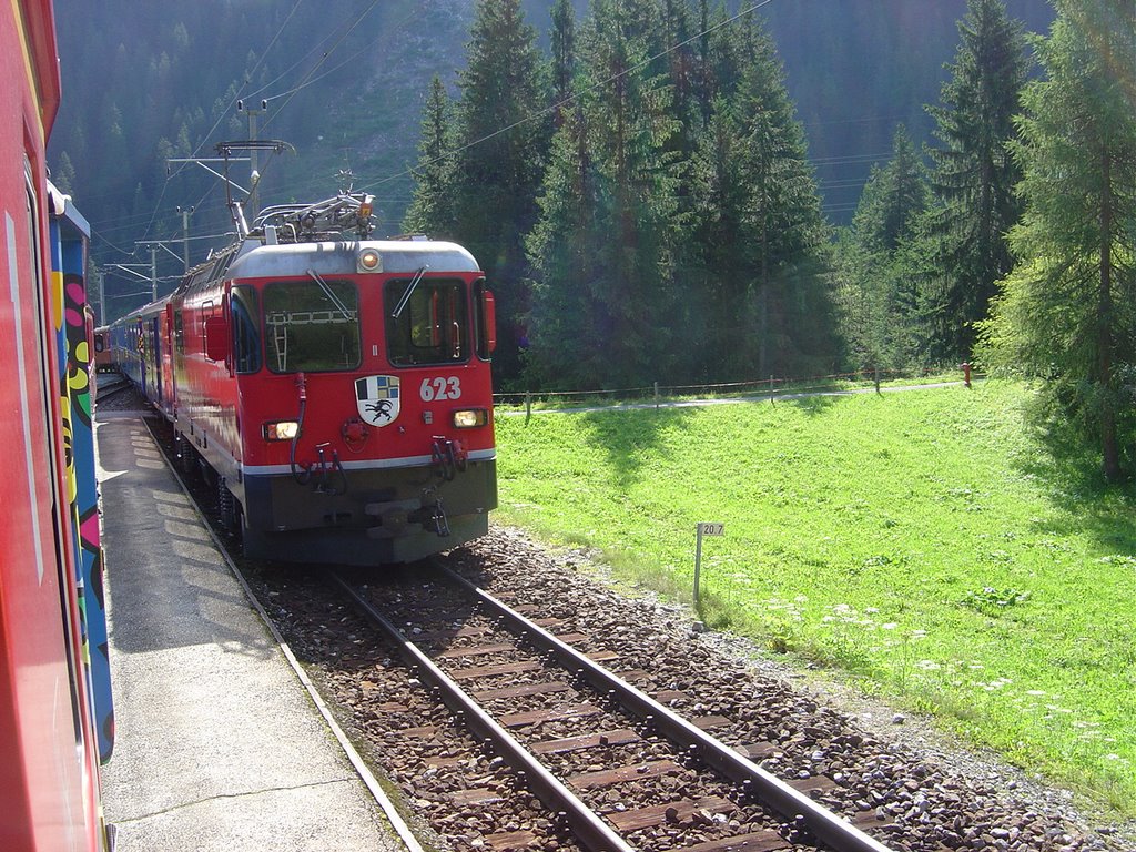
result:
M 524 630 L 526 641 L 556 655 L 566 668 L 575 669 L 579 677 L 592 686 L 605 692 L 624 708 L 636 713 L 654 726 L 654 729 L 696 754 L 732 780 L 742 785 L 743 791 L 783 817 L 796 820 L 818 840 L 829 844 L 837 852 L 892 852 L 887 846 L 868 836 L 809 796 L 766 771 L 749 758 L 743 757 L 701 728 L 676 716 L 650 695 L 621 680 L 605 668 L 588 659 L 576 649 L 565 644 L 540 625 L 525 618 L 477 587 L 465 577 L 441 566 L 456 583 L 475 595 L 493 615 L 508 621 L 513 629 Z

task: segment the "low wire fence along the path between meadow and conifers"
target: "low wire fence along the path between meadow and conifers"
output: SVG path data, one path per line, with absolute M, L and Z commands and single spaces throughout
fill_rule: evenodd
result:
M 778 377 L 744 382 L 719 382 L 712 384 L 665 385 L 655 382 L 635 387 L 593 389 L 587 391 L 513 391 L 493 394 L 493 402 L 502 407 L 532 406 L 563 408 L 573 404 L 612 404 L 632 402 L 675 402 L 688 399 L 763 398 L 777 399 L 793 394 L 837 392 L 862 387 L 877 391 L 885 383 L 910 382 L 963 382 L 969 386 L 969 365 L 955 369 L 928 370 L 857 370 L 832 373 L 824 376 Z

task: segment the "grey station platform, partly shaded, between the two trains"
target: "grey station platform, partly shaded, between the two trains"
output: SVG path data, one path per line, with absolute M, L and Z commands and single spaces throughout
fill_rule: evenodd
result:
M 95 428 L 117 720 L 102 784 L 118 852 L 416 849 L 352 768 L 142 420 L 100 414 Z

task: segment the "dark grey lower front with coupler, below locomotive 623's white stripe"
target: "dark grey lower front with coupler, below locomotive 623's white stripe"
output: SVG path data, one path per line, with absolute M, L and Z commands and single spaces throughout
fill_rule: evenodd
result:
M 336 471 L 303 484 L 245 476 L 244 553 L 252 559 L 375 566 L 409 562 L 488 531 L 496 462 L 452 478 L 436 466 Z

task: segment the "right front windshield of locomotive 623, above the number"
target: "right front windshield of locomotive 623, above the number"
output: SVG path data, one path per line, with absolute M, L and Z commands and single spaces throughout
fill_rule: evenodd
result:
M 421 281 L 420 276 L 389 281 L 383 309 L 386 354 L 393 366 L 469 359 L 466 287 L 460 281 Z

